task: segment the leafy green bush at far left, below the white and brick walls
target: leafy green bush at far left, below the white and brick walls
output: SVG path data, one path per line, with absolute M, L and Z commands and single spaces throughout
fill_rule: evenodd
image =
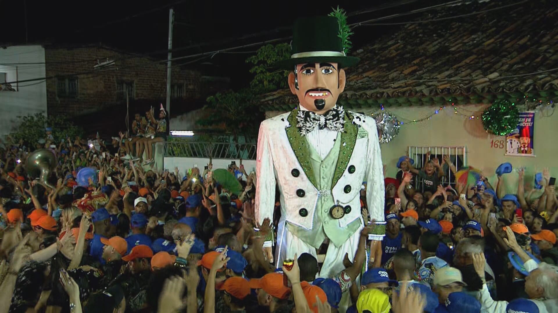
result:
M 35 115 L 18 116 L 17 127 L 9 134 L 12 141 L 23 140 L 24 143 L 34 147 L 39 139 L 45 139 L 45 128 L 52 128 L 52 136 L 56 143 L 66 138 L 74 139 L 75 136 L 83 135 L 83 129 L 75 126 L 63 115 L 46 117 L 42 113 Z

